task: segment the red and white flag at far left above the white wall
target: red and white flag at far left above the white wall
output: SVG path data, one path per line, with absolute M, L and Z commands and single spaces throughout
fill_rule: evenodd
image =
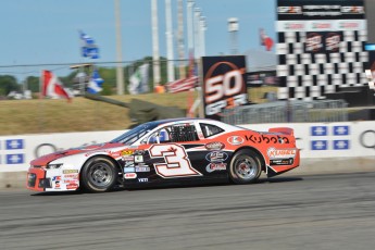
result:
M 41 73 L 41 95 L 52 99 L 66 98 L 71 100 L 70 93 L 64 89 L 58 77 L 50 71 Z

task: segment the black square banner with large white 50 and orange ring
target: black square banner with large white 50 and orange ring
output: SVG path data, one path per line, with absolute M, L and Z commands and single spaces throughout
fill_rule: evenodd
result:
M 245 55 L 202 58 L 202 103 L 207 118 L 221 120 L 224 109 L 248 103 Z

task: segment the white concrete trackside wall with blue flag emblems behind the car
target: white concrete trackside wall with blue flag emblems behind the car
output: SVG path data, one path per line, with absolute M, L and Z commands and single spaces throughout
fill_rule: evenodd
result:
M 272 123 L 239 126 L 267 132 L 271 127 L 295 129 L 301 159 L 329 160 L 375 155 L 375 121 L 341 123 Z M 109 141 L 124 132 L 59 133 L 0 137 L 0 172 L 27 171 L 29 162 L 57 150 Z

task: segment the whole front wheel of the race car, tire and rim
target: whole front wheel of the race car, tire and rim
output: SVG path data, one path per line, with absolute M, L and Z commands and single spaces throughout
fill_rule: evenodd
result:
M 113 188 L 117 180 L 115 164 L 108 158 L 96 157 L 82 168 L 80 182 L 85 190 L 104 192 Z

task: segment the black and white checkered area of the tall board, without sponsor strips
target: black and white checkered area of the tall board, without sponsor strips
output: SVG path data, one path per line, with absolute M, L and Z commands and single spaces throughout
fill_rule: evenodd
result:
M 339 52 L 304 51 L 307 32 L 279 32 L 276 45 L 278 99 L 316 100 L 340 88 L 366 85 L 367 32 L 343 30 Z

